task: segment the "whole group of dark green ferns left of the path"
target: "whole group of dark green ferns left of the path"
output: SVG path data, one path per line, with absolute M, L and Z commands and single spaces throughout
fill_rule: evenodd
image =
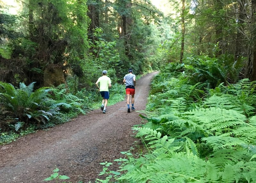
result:
M 84 113 L 82 99 L 68 93 L 63 85 L 57 88 L 42 87 L 34 91 L 35 82 L 26 86 L 20 83 L 18 89 L 12 84 L 0 82 L 0 106 L 5 120 L 0 123 L 2 130 L 26 128 L 30 124 L 46 125 L 53 117 L 58 117 L 64 110 L 73 109 Z M 10 120 L 7 120 L 7 118 Z

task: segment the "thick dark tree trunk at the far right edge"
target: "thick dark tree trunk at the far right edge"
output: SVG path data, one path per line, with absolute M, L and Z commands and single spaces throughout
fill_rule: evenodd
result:
M 245 78 L 249 78 L 251 81 L 256 81 L 256 0 L 251 1 L 252 15 L 251 15 L 251 35 L 250 35 L 250 47 L 248 54 L 248 62 L 245 68 Z

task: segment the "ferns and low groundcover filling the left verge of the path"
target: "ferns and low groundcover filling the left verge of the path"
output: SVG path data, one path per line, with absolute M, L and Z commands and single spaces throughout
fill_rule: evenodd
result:
M 71 118 L 97 109 L 101 104 L 100 93 L 85 89 L 72 94 L 64 84 L 40 88 L 21 83 L 19 88 L 0 83 L 0 145 L 15 141 L 20 136 L 66 123 Z M 124 100 L 125 87 L 113 84 L 109 105 Z

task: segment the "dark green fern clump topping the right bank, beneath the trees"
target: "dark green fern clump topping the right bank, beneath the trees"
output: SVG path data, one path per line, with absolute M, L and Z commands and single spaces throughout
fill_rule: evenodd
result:
M 184 60 L 185 74 L 189 82 L 207 84 L 208 88 L 216 87 L 220 83 L 235 83 L 239 79 L 244 60 L 234 59 L 232 55 L 222 55 L 211 58 L 205 55 L 193 55 Z

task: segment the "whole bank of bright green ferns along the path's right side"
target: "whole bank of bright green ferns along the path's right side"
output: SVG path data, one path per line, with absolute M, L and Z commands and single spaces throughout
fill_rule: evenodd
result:
M 148 122 L 133 128 L 146 153 L 121 165 L 120 182 L 256 183 L 255 82 L 228 84 L 236 68 L 205 59 L 152 81 Z

